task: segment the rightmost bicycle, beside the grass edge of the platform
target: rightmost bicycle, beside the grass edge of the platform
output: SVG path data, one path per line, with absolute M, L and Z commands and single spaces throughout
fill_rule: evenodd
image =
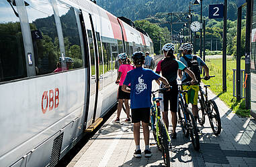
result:
M 215 77 L 215 75 L 210 77 Z M 206 77 L 202 77 L 201 79 L 206 79 Z M 200 108 L 198 108 L 198 122 L 201 126 L 203 126 L 207 115 L 212 131 L 216 136 L 218 136 L 221 132 L 220 112 L 218 112 L 218 106 L 214 100 L 208 100 L 208 87 L 210 87 L 210 85 L 204 86 L 206 89 L 206 92 L 204 92 L 202 86 L 199 86 L 200 94 L 198 96 L 198 100 L 200 102 Z

